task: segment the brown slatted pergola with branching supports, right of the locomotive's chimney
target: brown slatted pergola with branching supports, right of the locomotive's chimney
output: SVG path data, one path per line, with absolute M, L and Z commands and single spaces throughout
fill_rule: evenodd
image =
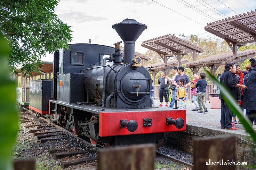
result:
M 177 66 L 179 67 L 181 65 L 181 59 L 184 55 L 190 53 L 193 60 L 196 60 L 197 55 L 203 52 L 203 48 L 176 37 L 174 34 L 167 34 L 161 37 L 143 41 L 141 46 L 157 52 L 163 59 L 165 67 L 168 67 L 167 61 L 172 56 L 177 58 Z M 162 68 L 162 70 L 164 70 L 164 68 Z M 165 70 L 165 72 L 168 74 L 168 70 Z

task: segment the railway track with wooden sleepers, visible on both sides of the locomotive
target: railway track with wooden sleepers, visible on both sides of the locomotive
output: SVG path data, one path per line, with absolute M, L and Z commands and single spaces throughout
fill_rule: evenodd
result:
M 45 144 L 46 142 L 64 144 L 66 143 L 66 145 L 62 146 L 52 146 L 52 144 L 49 144 L 49 148 L 47 148 L 47 152 L 50 157 L 54 160 L 58 160 L 59 164 L 63 169 L 75 168 L 75 166 L 81 163 L 82 165 L 80 166 L 82 167 L 88 166 L 86 162 L 94 162 L 94 168 L 97 169 L 97 151 L 102 148 L 93 146 L 89 141 L 75 136 L 74 133 L 60 126 L 56 126 L 54 123 L 51 123 L 42 117 L 37 118 L 36 114 L 30 112 L 27 108 L 20 108 L 20 110 L 20 123 L 26 124 L 25 130 L 27 130 L 27 133 L 33 135 L 40 145 L 47 145 Z M 75 144 L 76 146 L 68 146 L 68 142 L 65 142 L 65 140 L 70 140 L 70 137 L 76 139 L 77 141 L 80 141 L 80 144 Z M 83 146 L 81 146 L 81 143 L 83 143 Z M 42 146 L 41 148 L 45 149 L 45 147 Z M 86 157 L 86 155 L 88 154 L 90 155 L 90 157 Z M 164 153 L 161 153 L 161 151 L 159 150 L 156 151 L 156 155 L 164 159 L 170 159 L 172 162 L 185 165 L 189 169 L 194 168 L 192 164 L 174 158 L 173 156 L 168 156 Z

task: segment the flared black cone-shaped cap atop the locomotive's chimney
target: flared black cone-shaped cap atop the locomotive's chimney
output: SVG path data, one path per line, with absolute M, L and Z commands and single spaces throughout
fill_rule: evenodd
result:
M 124 19 L 118 24 L 112 26 L 123 41 L 136 41 L 140 34 L 148 28 L 148 26 L 137 22 L 135 19 Z

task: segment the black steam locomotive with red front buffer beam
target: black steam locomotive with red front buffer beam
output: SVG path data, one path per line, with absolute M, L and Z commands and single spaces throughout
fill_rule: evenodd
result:
M 52 99 L 43 102 L 48 106 L 46 115 L 75 135 L 90 138 L 93 145 L 159 147 L 165 143 L 163 132 L 186 129 L 186 111 L 152 107 L 151 77 L 140 57 L 134 56 L 135 41 L 147 26 L 125 19 L 112 28 L 124 41 L 124 57 L 121 42 L 115 48 L 70 44 L 70 50 L 54 53 L 52 85 L 41 87 L 52 89 Z M 29 108 L 45 113 L 36 106 Z

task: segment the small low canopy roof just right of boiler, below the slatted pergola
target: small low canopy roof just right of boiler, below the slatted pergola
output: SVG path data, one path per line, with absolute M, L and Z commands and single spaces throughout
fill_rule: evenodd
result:
M 181 62 L 181 64 L 187 63 L 188 59 L 181 59 L 180 62 Z M 167 65 L 168 66 L 166 66 L 166 64 L 164 62 L 159 62 L 159 63 L 154 63 L 154 64 L 147 65 L 147 68 L 151 67 L 148 71 L 153 76 L 154 84 L 155 84 L 156 74 L 157 74 L 158 71 L 160 71 L 160 70 L 172 70 L 174 67 L 178 66 L 178 61 L 177 60 L 169 60 L 167 62 Z M 167 74 L 167 71 L 165 71 L 165 72 Z

